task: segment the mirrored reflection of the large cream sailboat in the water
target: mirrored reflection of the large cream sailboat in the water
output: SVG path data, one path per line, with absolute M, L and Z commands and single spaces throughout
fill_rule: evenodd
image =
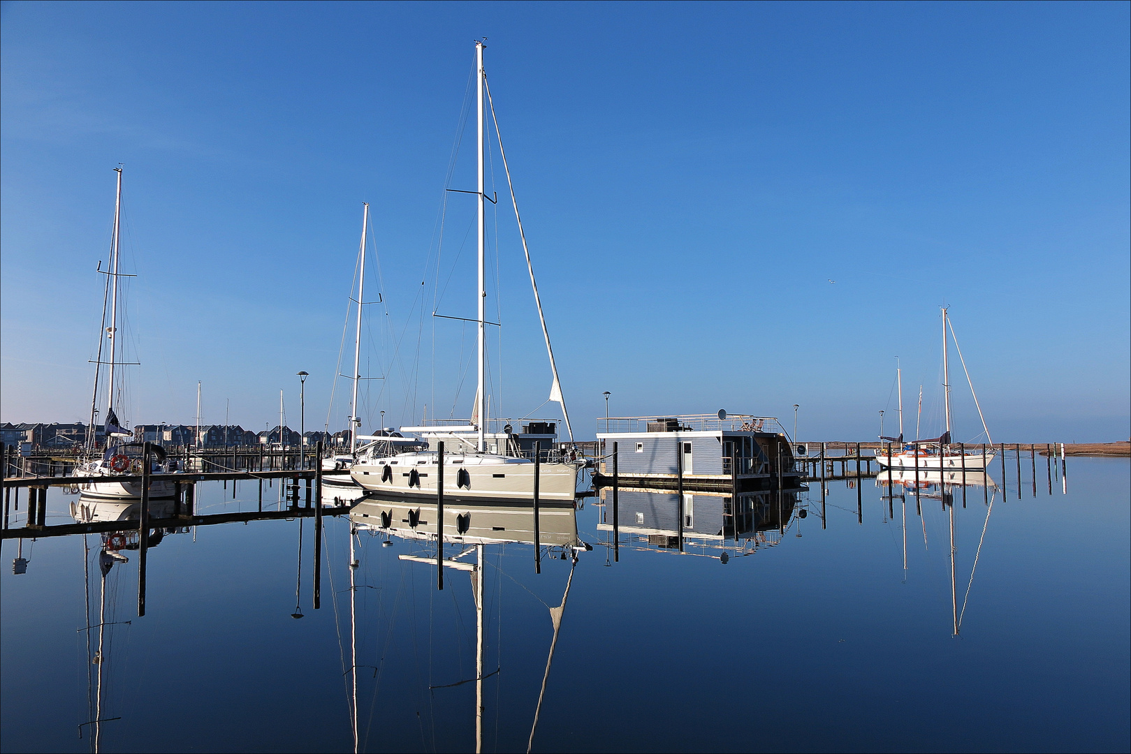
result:
M 542 691 L 530 729 L 530 743 L 537 726 L 542 700 L 546 690 L 546 681 L 553 661 L 554 647 L 561 629 L 566 601 L 570 586 L 573 582 L 573 567 L 580 553 L 592 549 L 581 541 L 577 531 L 575 502 L 544 502 L 538 506 L 537 522 L 532 505 L 515 504 L 512 500 L 459 500 L 443 506 L 443 521 L 438 520 L 439 506 L 435 502 L 425 503 L 418 499 L 397 496 L 364 496 L 349 512 L 349 645 L 348 658 L 343 658 L 349 679 L 351 723 L 353 727 L 354 751 L 363 748 L 359 731 L 357 717 L 357 660 L 359 619 L 357 601 L 362 589 L 372 588 L 359 583 L 359 572 L 364 572 L 364 564 L 359 560 L 359 553 L 364 552 L 362 537 L 380 537 L 382 545 L 394 545 L 396 539 L 403 544 L 423 545 L 425 549 L 414 549 L 411 553 L 398 554 L 403 567 L 426 567 L 437 573 L 437 565 L 442 562 L 444 575 L 437 574 L 438 586 L 443 589 L 455 587 L 459 590 L 460 580 L 452 583 L 451 573 L 467 572 L 470 578 L 470 591 L 475 603 L 475 677 L 456 684 L 430 686 L 446 688 L 464 683 L 475 683 L 475 751 L 483 751 L 483 716 L 485 712 L 483 682 L 499 673 L 499 669 L 484 669 L 484 650 L 486 625 L 484 622 L 484 580 L 489 565 L 487 548 L 499 552 L 498 562 L 491 567 L 501 570 L 501 552 L 507 545 L 537 546 L 538 554 L 545 560 L 569 560 L 570 570 L 566 580 L 564 591 L 559 606 L 550 606 L 550 617 L 553 635 L 550 653 L 542 681 Z M 537 528 L 537 532 L 535 529 Z M 537 543 L 537 544 L 536 544 Z M 442 549 L 441 549 L 442 545 Z M 532 558 L 533 560 L 533 558 Z M 497 589 L 498 591 L 498 589 Z M 457 591 L 458 596 L 458 591 Z M 394 609 L 396 607 L 394 606 Z M 374 669 L 374 676 L 377 671 Z M 375 692 L 374 692 L 375 693 Z

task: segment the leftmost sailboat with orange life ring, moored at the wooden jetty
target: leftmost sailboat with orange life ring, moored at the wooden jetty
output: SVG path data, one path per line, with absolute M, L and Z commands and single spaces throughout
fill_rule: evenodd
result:
M 87 482 L 79 486 L 80 492 L 92 499 L 139 501 L 141 499 L 141 483 L 132 480 L 114 482 L 113 477 L 122 475 L 137 476 L 141 474 L 144 462 L 144 444 L 130 442 L 133 434 L 124 430 L 122 422 L 118 418 L 114 404 L 119 396 L 120 375 L 116 366 L 124 366 L 128 362 L 120 361 L 123 357 L 123 345 L 119 345 L 119 312 L 118 303 L 120 298 L 119 278 L 126 276 L 119 271 L 120 254 L 120 229 L 122 210 L 122 168 L 115 167 L 118 173 L 118 193 L 114 200 L 114 226 L 110 246 L 110 263 L 105 271 L 106 289 L 102 302 L 102 330 L 98 335 L 98 352 L 95 358 L 94 389 L 90 399 L 90 430 L 87 433 L 86 458 L 76 470 L 76 476 L 106 477 L 105 482 Z M 110 326 L 106 326 L 106 306 L 110 307 Z M 105 336 L 105 341 L 103 340 Z M 103 344 L 110 347 L 110 361 L 103 361 Z M 96 416 L 98 413 L 98 378 L 102 366 L 106 365 L 106 422 L 105 422 L 105 445 L 100 449 L 94 431 Z M 149 458 L 152 474 L 162 474 L 169 470 L 165 462 L 165 452 L 159 445 L 153 447 L 153 454 Z M 172 497 L 174 494 L 173 483 L 164 479 L 152 479 L 149 483 L 149 497 Z

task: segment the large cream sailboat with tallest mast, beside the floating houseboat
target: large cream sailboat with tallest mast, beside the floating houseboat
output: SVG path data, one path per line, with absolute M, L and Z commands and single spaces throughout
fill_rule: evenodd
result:
M 539 458 L 541 463 L 536 463 L 529 456 L 529 447 L 524 448 L 519 435 L 512 431 L 508 423 L 501 432 L 490 431 L 490 419 L 487 418 L 487 384 L 486 384 L 486 337 L 485 304 L 486 304 L 486 267 L 485 267 L 485 198 L 484 193 L 484 124 L 486 111 L 484 105 L 489 105 L 492 112 L 492 120 L 495 124 L 495 135 L 499 137 L 499 154 L 502 158 L 503 167 L 507 171 L 508 183 L 510 183 L 510 168 L 507 166 L 507 155 L 502 149 L 502 138 L 499 133 L 498 120 L 493 118 L 494 106 L 491 101 L 491 90 L 486 84 L 486 76 L 483 70 L 483 42 L 475 43 L 476 62 L 476 164 L 477 164 L 477 191 L 475 192 L 478 217 L 478 287 L 476 289 L 476 305 L 478 318 L 475 320 L 477 329 L 477 388 L 475 391 L 475 406 L 472 417 L 466 425 L 460 424 L 433 424 L 418 427 L 402 427 L 402 433 L 408 432 L 418 435 L 428 441 L 429 450 L 397 453 L 385 458 L 359 459 L 351 468 L 354 480 L 366 489 L 380 489 L 382 493 L 403 496 L 434 497 L 437 491 L 437 466 L 443 463 L 450 469 L 442 476 L 446 479 L 446 493 L 452 499 L 503 499 L 503 500 L 532 500 L 535 489 L 535 478 L 537 477 L 539 495 L 543 500 L 572 501 L 577 489 L 577 476 L 584 461 L 576 458 L 576 453 L 555 454 L 543 451 L 544 458 Z M 486 101 L 484 101 L 484 95 Z M 537 304 L 538 319 L 542 322 L 542 333 L 545 338 L 546 352 L 550 356 L 550 370 L 553 376 L 550 389 L 550 400 L 558 402 L 562 407 L 562 416 L 566 421 L 566 428 L 572 440 L 569 414 L 566 410 L 566 400 L 562 397 L 561 382 L 558 379 L 558 366 L 554 363 L 553 348 L 550 345 L 550 333 L 546 329 L 545 317 L 542 313 L 542 301 L 538 297 L 538 288 L 534 281 L 534 268 L 530 263 L 530 253 L 526 244 L 526 234 L 523 231 L 523 222 L 518 215 L 518 202 L 515 198 L 513 185 L 510 185 L 511 202 L 515 206 L 515 219 L 518 223 L 519 235 L 523 241 L 523 250 L 526 254 L 527 270 L 530 274 L 530 285 L 534 288 L 534 300 Z M 356 414 L 356 409 L 354 410 Z M 495 422 L 498 424 L 498 422 Z M 542 432 L 549 430 L 551 425 L 544 423 L 530 423 L 527 425 L 529 434 L 550 434 Z M 447 453 L 439 453 L 439 443 L 448 443 Z M 529 444 L 528 442 L 526 443 Z M 536 475 L 537 469 L 537 475 Z M 449 489 L 450 488 L 450 489 Z

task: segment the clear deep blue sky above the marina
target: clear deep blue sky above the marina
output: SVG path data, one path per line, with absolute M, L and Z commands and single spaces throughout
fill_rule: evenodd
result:
M 796 402 L 802 437 L 870 439 L 895 355 L 908 422 L 922 383 L 935 423 L 943 301 L 995 440 L 1129 435 L 1125 2 L 6 2 L 0 20 L 3 421 L 87 416 L 118 163 L 130 421 L 190 422 L 201 380 L 208 423 L 230 401 L 274 425 L 284 388 L 295 425 L 305 370 L 325 424 L 362 201 L 388 302 L 366 428 L 381 408 L 466 416 L 461 326 L 422 320 L 418 295 L 485 35 L 579 437 L 610 390 L 613 415 Z M 452 188 L 473 188 L 470 144 Z M 470 200 L 449 207 L 439 309 L 474 315 Z M 550 378 L 504 202 L 498 232 L 495 400 L 517 417 Z

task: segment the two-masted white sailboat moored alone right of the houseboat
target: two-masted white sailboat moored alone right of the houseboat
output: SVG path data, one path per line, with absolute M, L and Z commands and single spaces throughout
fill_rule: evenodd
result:
M 890 447 L 882 451 L 877 451 L 875 460 L 882 467 L 891 468 L 920 468 L 920 469 L 936 469 L 939 471 L 949 471 L 952 469 L 966 469 L 966 470 L 985 470 L 990 466 L 990 461 L 994 458 L 994 451 L 992 449 L 978 449 L 978 450 L 961 450 L 955 448 L 951 442 L 951 414 L 950 414 L 950 359 L 949 359 L 949 340 L 955 339 L 955 348 L 958 350 L 958 357 L 962 362 L 962 371 L 966 372 L 967 382 L 970 384 L 970 395 L 974 396 L 974 405 L 977 406 L 978 417 L 982 419 L 982 428 L 985 430 L 986 444 L 992 445 L 993 440 L 990 437 L 990 427 L 986 426 L 985 416 L 982 414 L 982 406 L 978 404 L 978 397 L 974 393 L 974 383 L 969 380 L 969 371 L 966 370 L 966 359 L 962 358 L 962 352 L 958 347 L 958 338 L 955 337 L 953 326 L 950 324 L 950 319 L 947 313 L 947 307 L 942 307 L 942 388 L 943 388 L 943 400 L 946 406 L 946 432 L 943 432 L 938 437 L 932 437 L 930 440 L 915 440 L 906 445 L 904 445 L 899 452 L 892 452 L 890 457 L 888 452 Z M 881 437 L 889 442 L 901 443 L 903 442 L 903 375 L 899 374 L 900 380 L 900 407 L 899 407 L 899 437 Z

